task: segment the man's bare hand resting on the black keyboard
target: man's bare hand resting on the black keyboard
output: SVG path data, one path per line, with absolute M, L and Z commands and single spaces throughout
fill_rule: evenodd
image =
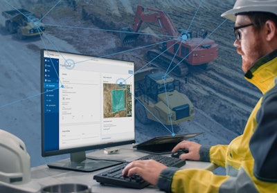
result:
M 124 176 L 132 176 L 132 174 L 139 174 L 145 181 L 148 181 L 152 185 L 157 185 L 159 175 L 163 169 L 166 169 L 166 165 L 163 165 L 156 160 L 134 160 L 132 163 L 126 165 L 122 174 Z

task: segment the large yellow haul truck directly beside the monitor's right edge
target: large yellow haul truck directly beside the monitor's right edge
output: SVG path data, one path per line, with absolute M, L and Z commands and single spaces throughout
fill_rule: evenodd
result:
M 135 114 L 143 124 L 154 120 L 164 125 L 177 125 L 194 118 L 192 102 L 177 91 L 181 85 L 178 80 L 153 67 L 136 71 L 134 80 Z

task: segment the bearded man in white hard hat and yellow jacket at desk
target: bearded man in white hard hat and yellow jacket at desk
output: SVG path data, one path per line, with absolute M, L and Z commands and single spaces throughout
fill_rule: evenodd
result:
M 277 0 L 237 0 L 222 17 L 235 21 L 233 45 L 242 56 L 242 71 L 262 97 L 244 133 L 229 145 L 183 141 L 172 152 L 188 149 L 179 158 L 210 161 L 225 167 L 226 175 L 154 160 L 129 163 L 123 174 L 139 174 L 166 192 L 277 192 Z

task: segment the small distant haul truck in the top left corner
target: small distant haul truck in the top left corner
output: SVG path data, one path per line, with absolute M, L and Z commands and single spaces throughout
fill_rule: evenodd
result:
M 28 10 L 8 10 L 2 12 L 6 18 L 5 26 L 9 33 L 17 33 L 19 39 L 35 37 L 44 33 L 44 25 Z

